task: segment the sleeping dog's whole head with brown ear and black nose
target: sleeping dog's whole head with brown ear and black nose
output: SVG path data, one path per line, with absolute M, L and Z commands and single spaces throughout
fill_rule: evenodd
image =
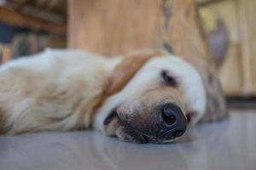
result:
M 172 54 L 133 54 L 113 71 L 109 97 L 95 119 L 108 135 L 137 143 L 165 143 L 182 136 L 206 109 L 195 67 Z

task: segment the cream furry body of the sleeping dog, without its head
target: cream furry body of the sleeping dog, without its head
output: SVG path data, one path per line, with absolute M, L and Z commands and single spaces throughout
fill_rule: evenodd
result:
M 117 63 L 96 54 L 49 49 L 3 65 L 0 107 L 8 133 L 88 127 L 94 102 Z

